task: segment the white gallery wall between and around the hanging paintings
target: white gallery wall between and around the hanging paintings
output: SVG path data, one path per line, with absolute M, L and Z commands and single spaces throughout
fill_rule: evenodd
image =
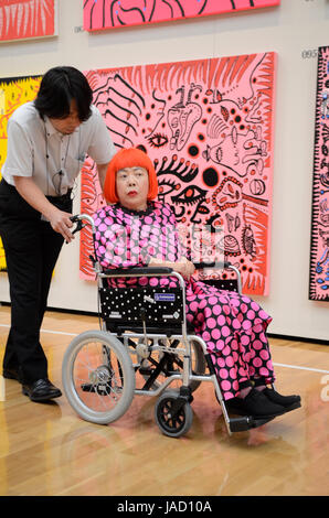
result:
M 221 1 L 221 0 L 217 0 Z M 329 45 L 328 0 L 282 0 L 276 8 L 89 34 L 83 0 L 59 0 L 59 36 L 0 44 L 0 77 L 277 53 L 274 187 L 268 296 L 273 334 L 329 342 L 329 302 L 308 300 L 317 56 Z M 75 212 L 79 199 L 75 198 Z M 7 274 L 0 301 L 9 302 Z M 64 245 L 49 305 L 96 312 L 96 284 L 79 278 L 78 237 Z M 1 311 L 1 309 L 0 309 Z

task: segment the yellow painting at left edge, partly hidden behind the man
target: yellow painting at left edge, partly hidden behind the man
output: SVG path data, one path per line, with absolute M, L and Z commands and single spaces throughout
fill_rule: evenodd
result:
M 7 122 L 13 111 L 36 97 L 41 76 L 0 79 L 0 171 L 7 154 Z M 0 174 L 1 179 L 1 174 Z M 6 271 L 4 250 L 0 239 L 0 271 Z

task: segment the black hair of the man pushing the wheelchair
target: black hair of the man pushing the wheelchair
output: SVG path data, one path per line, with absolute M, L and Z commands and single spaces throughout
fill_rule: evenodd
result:
M 42 118 L 63 119 L 70 115 L 72 99 L 75 99 L 78 118 L 84 122 L 92 115 L 93 101 L 86 77 L 73 66 L 55 66 L 44 74 L 34 106 Z

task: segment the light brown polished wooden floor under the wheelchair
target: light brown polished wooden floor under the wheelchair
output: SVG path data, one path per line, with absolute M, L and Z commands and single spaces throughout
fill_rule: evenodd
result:
M 10 312 L 0 307 L 0 360 Z M 98 328 L 93 316 L 49 313 L 42 343 L 52 381 L 72 335 Z M 4 381 L 0 401 L 0 495 L 329 495 L 329 347 L 270 339 L 276 388 L 303 408 L 229 436 L 210 384 L 194 392 L 181 439 L 162 435 L 155 400 L 135 397 L 112 425 L 81 420 L 65 397 L 31 402 Z M 3 379 L 2 379 L 3 381 Z M 1 396 L 1 392 L 0 392 Z

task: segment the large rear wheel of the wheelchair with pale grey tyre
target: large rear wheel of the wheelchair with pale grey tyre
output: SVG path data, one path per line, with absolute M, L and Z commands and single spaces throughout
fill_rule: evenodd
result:
M 128 410 L 135 371 L 120 342 L 103 331 L 87 331 L 67 347 L 62 367 L 65 396 L 85 421 L 108 424 Z

